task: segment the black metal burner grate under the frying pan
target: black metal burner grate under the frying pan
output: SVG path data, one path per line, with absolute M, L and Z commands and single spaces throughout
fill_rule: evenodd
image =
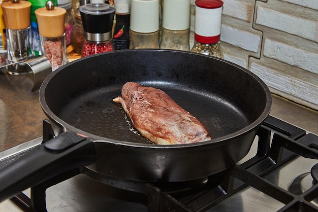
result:
M 271 139 L 272 131 L 275 133 Z M 269 117 L 259 128 L 257 136 L 259 138 L 257 154 L 248 161 L 208 176 L 206 179 L 180 184 L 173 190 L 166 190 L 167 186 L 160 184 L 96 176 L 96 173 L 82 167 L 67 171 L 31 188 L 30 199 L 21 193 L 12 200 L 25 211 L 45 211 L 47 188 L 79 173 L 85 173 L 105 184 L 146 194 L 148 211 L 166 211 L 167 208 L 170 211 L 204 211 L 245 186 L 256 188 L 282 202 L 285 206 L 279 211 L 317 211 L 318 207 L 311 204 L 311 201 L 318 197 L 318 184 L 303 193 L 294 194 L 265 180 L 262 176 L 296 157 L 297 154 L 318 159 L 318 152 L 312 148 L 318 145 L 318 136 L 306 134 L 304 130 L 273 117 Z

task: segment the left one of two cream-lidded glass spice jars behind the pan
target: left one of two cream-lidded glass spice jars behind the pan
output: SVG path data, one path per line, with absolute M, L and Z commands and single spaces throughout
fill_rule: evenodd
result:
M 159 1 L 132 0 L 130 49 L 159 48 Z

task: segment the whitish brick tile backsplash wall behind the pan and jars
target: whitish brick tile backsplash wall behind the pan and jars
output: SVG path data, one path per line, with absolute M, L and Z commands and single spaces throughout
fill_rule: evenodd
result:
M 272 93 L 318 110 L 318 1 L 223 2 L 224 58 L 258 75 Z M 191 4 L 193 45 L 195 1 Z

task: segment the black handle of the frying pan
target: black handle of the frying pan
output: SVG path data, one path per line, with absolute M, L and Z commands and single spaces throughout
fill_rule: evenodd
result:
M 63 132 L 0 169 L 0 202 L 95 160 L 93 142 L 75 133 Z

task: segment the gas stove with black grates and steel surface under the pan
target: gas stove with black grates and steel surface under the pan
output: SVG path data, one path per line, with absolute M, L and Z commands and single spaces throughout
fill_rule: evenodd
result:
M 51 136 L 0 153 L 0 167 Z M 318 136 L 269 116 L 250 152 L 220 173 L 190 182 L 147 183 L 80 167 L 0 203 L 10 211 L 317 211 Z M 215 161 L 217 163 L 217 161 Z

